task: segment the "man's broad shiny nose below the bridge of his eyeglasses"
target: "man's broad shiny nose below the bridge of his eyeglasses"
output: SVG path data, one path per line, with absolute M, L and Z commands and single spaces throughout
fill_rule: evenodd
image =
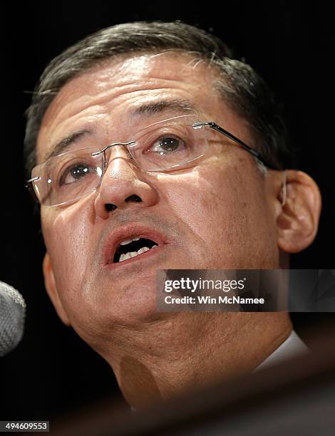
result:
M 115 209 L 153 206 L 158 192 L 145 180 L 145 172 L 136 167 L 122 145 L 110 148 L 105 172 L 95 199 L 98 217 L 106 219 Z

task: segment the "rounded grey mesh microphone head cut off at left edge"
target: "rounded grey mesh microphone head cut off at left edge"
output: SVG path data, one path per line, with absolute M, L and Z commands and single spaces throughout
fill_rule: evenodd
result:
M 24 297 L 13 286 L 0 281 L 0 357 L 21 341 L 25 315 Z

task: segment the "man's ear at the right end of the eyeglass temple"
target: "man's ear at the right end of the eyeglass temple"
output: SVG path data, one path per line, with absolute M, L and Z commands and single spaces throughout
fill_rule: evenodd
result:
M 278 246 L 287 253 L 297 253 L 316 237 L 321 194 L 314 180 L 305 172 L 285 170 L 284 173 L 286 190 L 283 186 L 278 194 L 281 204 L 277 215 Z

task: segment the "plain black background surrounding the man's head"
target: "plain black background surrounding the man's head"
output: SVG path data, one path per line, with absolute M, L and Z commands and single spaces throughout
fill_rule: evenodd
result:
M 0 420 L 53 419 L 101 398 L 120 396 L 113 373 L 63 326 L 43 287 L 44 246 L 24 190 L 24 110 L 46 66 L 63 49 L 99 28 L 125 21 L 180 19 L 220 36 L 245 58 L 284 104 L 298 164 L 318 183 L 323 210 L 316 241 L 292 256 L 292 267 L 334 268 L 334 14 L 317 2 L 8 3 L 1 14 L 1 261 L 0 280 L 28 306 L 24 340 L 0 360 Z M 293 314 L 308 342 L 310 328 L 330 316 Z M 331 316 L 334 322 L 334 316 Z

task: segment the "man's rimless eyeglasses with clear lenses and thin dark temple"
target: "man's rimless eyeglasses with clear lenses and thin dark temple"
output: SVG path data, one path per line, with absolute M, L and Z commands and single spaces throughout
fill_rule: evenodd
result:
M 102 150 L 83 147 L 63 152 L 37 165 L 26 181 L 33 197 L 43 206 L 56 207 L 76 202 L 96 190 L 108 167 L 110 150 L 116 145 L 128 150 L 134 164 L 148 172 L 172 172 L 193 165 L 208 148 L 207 128 L 229 137 L 266 167 L 274 167 L 249 145 L 210 122 L 199 122 L 197 115 L 180 115 L 148 125 L 129 142 L 113 142 Z

